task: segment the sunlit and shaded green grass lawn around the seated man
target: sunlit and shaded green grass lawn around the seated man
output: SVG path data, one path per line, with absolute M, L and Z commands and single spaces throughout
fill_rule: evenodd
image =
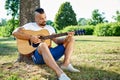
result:
M 75 40 L 71 62 L 81 72 L 65 71 L 72 80 L 120 80 L 120 37 L 75 36 Z M 46 65 L 14 63 L 17 56 L 13 37 L 0 38 L 0 80 L 56 80 Z

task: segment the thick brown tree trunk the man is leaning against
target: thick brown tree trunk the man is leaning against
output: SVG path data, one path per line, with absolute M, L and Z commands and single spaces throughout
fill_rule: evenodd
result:
M 40 0 L 20 0 L 20 26 L 34 21 L 34 11 L 40 7 Z M 19 53 L 17 62 L 31 62 L 31 57 Z

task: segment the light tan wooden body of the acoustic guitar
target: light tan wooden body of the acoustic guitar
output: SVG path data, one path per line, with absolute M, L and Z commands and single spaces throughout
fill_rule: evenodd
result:
M 46 29 L 42 29 L 39 31 L 23 30 L 23 32 L 26 34 L 35 35 L 35 36 L 50 35 L 48 30 L 46 30 Z M 51 45 L 50 39 L 46 39 L 46 40 L 44 40 L 44 42 L 47 43 L 48 46 Z M 28 40 L 22 40 L 22 39 L 17 39 L 17 46 L 18 46 L 18 51 L 23 55 L 30 54 L 37 48 L 37 47 L 33 47 L 32 45 L 30 45 L 30 42 Z

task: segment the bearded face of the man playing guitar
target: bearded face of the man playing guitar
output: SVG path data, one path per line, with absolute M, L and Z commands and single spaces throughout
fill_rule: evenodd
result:
M 35 21 L 39 26 L 45 26 L 46 25 L 46 14 L 37 13 L 35 15 Z

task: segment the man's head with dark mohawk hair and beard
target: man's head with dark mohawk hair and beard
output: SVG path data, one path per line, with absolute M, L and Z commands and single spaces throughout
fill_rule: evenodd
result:
M 46 14 L 44 12 L 44 9 L 38 8 L 35 10 L 35 22 L 39 26 L 45 26 L 46 25 Z

